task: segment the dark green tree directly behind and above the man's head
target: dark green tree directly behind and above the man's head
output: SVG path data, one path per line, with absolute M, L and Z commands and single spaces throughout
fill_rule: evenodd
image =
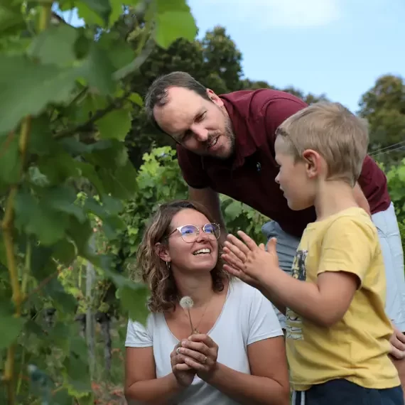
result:
M 141 19 L 139 24 L 144 24 Z M 136 47 L 136 42 L 133 46 Z M 189 72 L 218 94 L 239 90 L 241 60 L 242 55 L 225 28 L 215 27 L 207 31 L 201 41 L 179 38 L 168 49 L 155 48 L 139 75 L 134 77 L 133 90 L 144 95 L 153 80 L 175 70 Z M 126 146 L 134 166 L 141 166 L 142 156 L 153 146 L 166 145 L 174 147 L 175 142 L 148 123 L 144 109 L 135 107 L 131 131 L 126 136 Z

